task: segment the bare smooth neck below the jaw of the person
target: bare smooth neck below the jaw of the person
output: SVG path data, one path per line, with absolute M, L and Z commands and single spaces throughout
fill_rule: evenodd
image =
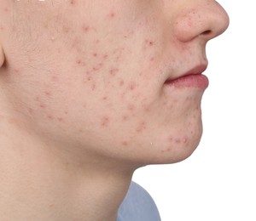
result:
M 134 169 L 102 159 L 79 163 L 15 128 L 0 127 L 0 132 L 3 219 L 116 219 Z

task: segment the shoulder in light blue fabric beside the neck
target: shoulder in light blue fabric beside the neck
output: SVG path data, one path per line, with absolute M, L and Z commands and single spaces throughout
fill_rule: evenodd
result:
M 160 221 L 153 198 L 139 184 L 131 182 L 119 207 L 118 221 Z

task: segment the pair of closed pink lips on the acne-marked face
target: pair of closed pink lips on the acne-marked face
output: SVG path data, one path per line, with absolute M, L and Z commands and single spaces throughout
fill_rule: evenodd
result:
M 209 81 L 205 75 L 202 75 L 202 72 L 206 71 L 206 69 L 207 65 L 197 65 L 178 77 L 168 78 L 165 84 L 174 88 L 206 89 Z

